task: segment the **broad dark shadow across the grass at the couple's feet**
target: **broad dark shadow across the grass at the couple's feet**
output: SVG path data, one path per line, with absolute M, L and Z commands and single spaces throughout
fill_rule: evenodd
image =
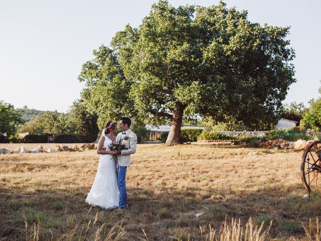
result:
M 287 190 L 301 190 L 293 185 Z M 168 240 L 169 236 L 189 232 L 197 240 L 201 234 L 199 226 L 211 224 L 219 229 L 226 215 L 240 218 L 244 223 L 253 218 L 255 224 L 266 224 L 273 220 L 270 230 L 272 237 L 301 237 L 302 223 L 310 216 L 321 215 L 321 198 L 314 195 L 310 201 L 301 196 L 287 193 L 279 187 L 263 186 L 257 191 L 233 191 L 226 189 L 199 189 L 163 187 L 157 194 L 143 188 L 128 188 L 130 210 L 104 210 L 85 203 L 88 190 L 53 188 L 43 184 L 37 191 L 0 188 L 0 237 L 26 239 L 27 223 L 40 220 L 43 238 L 61 236 L 79 225 L 86 225 L 95 219 L 96 223 L 111 228 L 123 221 L 128 240 L 144 238 L 142 229 L 149 240 Z M 197 214 L 199 216 L 197 216 Z M 268 225 L 267 225 L 268 226 Z M 96 229 L 90 230 L 94 235 Z M 125 239 L 126 239 L 125 238 Z

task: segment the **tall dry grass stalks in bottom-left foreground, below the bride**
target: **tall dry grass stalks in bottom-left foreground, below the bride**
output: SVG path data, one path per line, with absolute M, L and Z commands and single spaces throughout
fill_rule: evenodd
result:
M 90 210 L 89 210 L 90 211 Z M 51 237 L 48 239 L 44 236 L 42 236 L 42 228 L 41 228 L 41 222 L 38 220 L 37 223 L 31 224 L 29 227 L 29 224 L 27 223 L 27 219 L 25 217 L 25 227 L 26 227 L 26 240 L 27 241 L 39 241 L 39 240 L 49 240 L 49 241 L 74 241 L 74 240 L 93 240 L 93 241 L 110 241 L 110 240 L 120 240 L 121 237 L 123 237 L 126 232 L 122 228 L 122 222 L 117 222 L 115 225 L 113 225 L 109 231 L 104 228 L 105 224 L 102 224 L 101 226 L 96 226 L 96 221 L 98 219 L 98 212 L 96 213 L 95 219 L 89 220 L 87 225 L 75 225 L 73 228 L 71 228 L 68 232 L 65 234 L 60 234 L 58 236 L 55 236 L 52 230 L 50 229 Z M 90 230 L 90 232 L 89 232 Z M 96 230 L 96 231 L 94 231 Z M 93 235 L 94 233 L 94 235 Z

